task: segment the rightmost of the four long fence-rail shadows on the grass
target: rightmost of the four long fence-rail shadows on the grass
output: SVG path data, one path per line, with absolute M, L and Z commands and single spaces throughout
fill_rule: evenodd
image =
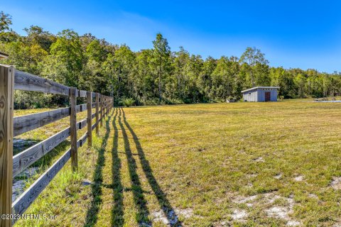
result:
M 123 109 L 121 110 L 123 114 L 124 124 L 126 128 L 128 128 L 129 132 L 131 133 L 134 139 L 136 150 L 141 161 L 142 169 L 144 170 L 144 174 L 146 175 L 148 183 L 151 185 L 153 193 L 156 195 L 156 198 L 158 199 L 158 204 L 161 206 L 161 209 L 163 210 L 163 213 L 167 217 L 168 222 L 171 224 L 171 226 L 182 226 L 182 223 L 179 221 L 178 216 L 176 216 L 175 211 L 171 206 L 171 203 L 168 201 L 166 194 L 162 191 L 160 185 L 158 185 L 158 182 L 153 175 L 153 170 L 151 170 L 151 165 L 149 165 L 148 160 L 146 160 L 146 155 L 144 154 L 144 149 L 141 146 L 139 138 L 129 125 L 128 121 L 126 121 L 126 115 L 124 113 L 124 110 Z M 124 137 L 126 137 L 126 135 Z

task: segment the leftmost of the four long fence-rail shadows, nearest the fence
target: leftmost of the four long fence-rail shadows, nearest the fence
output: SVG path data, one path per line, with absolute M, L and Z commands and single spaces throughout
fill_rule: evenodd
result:
M 104 152 L 107 147 L 107 141 L 110 134 L 110 119 L 111 116 L 108 116 L 107 121 L 105 123 L 106 132 L 104 134 L 102 144 L 97 149 L 97 163 L 96 168 L 94 170 L 94 183 L 92 184 L 92 201 L 91 206 L 87 210 L 87 219 L 85 226 L 94 226 L 97 223 L 97 216 L 99 212 L 99 206 L 102 204 L 102 184 L 103 184 L 103 176 L 102 170 L 105 162 Z

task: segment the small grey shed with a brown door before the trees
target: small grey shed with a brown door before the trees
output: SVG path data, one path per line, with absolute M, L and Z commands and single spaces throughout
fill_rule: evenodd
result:
M 252 87 L 242 91 L 244 101 L 277 101 L 279 87 Z

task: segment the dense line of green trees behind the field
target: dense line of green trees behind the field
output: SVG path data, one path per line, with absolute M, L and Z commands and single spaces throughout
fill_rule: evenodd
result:
M 341 74 L 318 70 L 270 67 L 264 53 L 247 48 L 240 57 L 219 59 L 192 55 L 185 48 L 171 51 L 158 33 L 152 49 L 132 51 L 91 33 L 70 29 L 52 34 L 39 26 L 11 29 L 11 16 L 0 12 L 2 64 L 52 79 L 70 87 L 114 96 L 117 104 L 188 104 L 239 100 L 241 91 L 255 86 L 279 86 L 283 99 L 335 96 Z M 63 96 L 16 92 L 16 108 L 64 105 Z

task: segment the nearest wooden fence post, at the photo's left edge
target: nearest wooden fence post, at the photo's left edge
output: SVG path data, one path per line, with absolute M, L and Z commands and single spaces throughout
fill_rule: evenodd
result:
M 14 68 L 0 65 L 0 214 L 11 214 L 13 172 Z M 0 226 L 11 226 L 1 218 Z

